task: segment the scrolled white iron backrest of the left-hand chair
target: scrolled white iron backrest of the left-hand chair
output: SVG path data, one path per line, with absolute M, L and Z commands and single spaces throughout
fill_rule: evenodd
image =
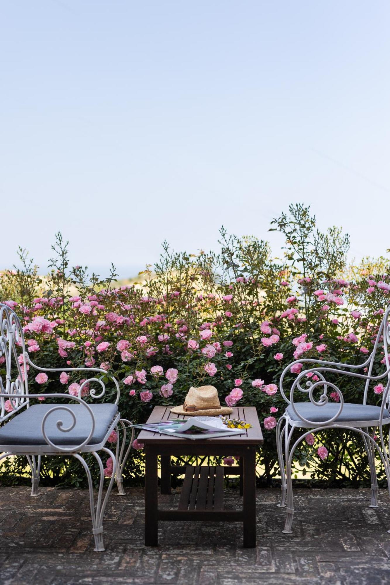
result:
M 0 376 L 0 422 L 29 406 L 28 364 L 25 338 L 18 315 L 0 303 L 0 368 L 5 366 L 5 378 Z M 6 398 L 4 394 L 18 394 Z M 20 395 L 20 397 L 19 397 Z

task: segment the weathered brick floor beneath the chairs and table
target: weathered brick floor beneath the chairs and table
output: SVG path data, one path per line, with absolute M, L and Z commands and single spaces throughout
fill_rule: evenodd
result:
M 281 533 L 277 490 L 258 490 L 258 546 L 242 548 L 242 525 L 161 522 L 160 545 L 143 546 L 143 490 L 112 495 L 103 553 L 93 551 L 88 494 L 2 488 L 0 583 L 374 584 L 390 582 L 390 504 L 368 508 L 368 490 L 296 490 L 292 535 Z M 113 490 L 114 494 L 114 490 Z M 164 496 L 166 504 L 177 495 Z M 227 490 L 225 502 L 237 501 Z

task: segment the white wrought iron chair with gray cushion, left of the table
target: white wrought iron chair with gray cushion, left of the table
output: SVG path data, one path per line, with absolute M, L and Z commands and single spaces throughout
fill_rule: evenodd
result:
M 0 461 L 10 455 L 25 455 L 32 471 L 31 495 L 38 495 L 42 455 L 75 457 L 87 474 L 92 532 L 95 539 L 94 550 L 104 550 L 102 534 L 105 507 L 114 477 L 117 481 L 119 495 L 124 494 L 122 471 L 134 439 L 134 429 L 132 428 L 131 441 L 126 449 L 126 427 L 131 423 L 126 419 L 121 419 L 118 411 L 118 381 L 100 368 L 44 368 L 36 366 L 26 352 L 23 329 L 18 316 L 4 304 L 0 304 L 0 357 L 2 356 L 4 356 L 6 375 L 5 385 L 0 377 Z M 96 400 L 105 395 L 105 384 L 101 377 L 85 380 L 78 390 L 78 396 L 63 393 L 30 394 L 28 387 L 30 366 L 43 372 L 98 372 L 111 378 L 114 383 L 115 401 L 88 404 L 81 398 L 85 386 L 91 382 L 100 384 L 101 390 L 99 389 L 97 392 L 92 388 L 88 391 L 90 398 Z M 14 378 L 12 378 L 12 372 L 15 374 Z M 45 398 L 45 400 L 50 398 L 50 401 L 61 400 L 61 402 L 60 404 L 55 402 L 54 404 L 44 404 L 39 401 L 39 398 Z M 8 404 L 6 401 L 9 401 Z M 67 404 L 63 401 L 66 401 Z M 105 446 L 108 437 L 114 430 L 117 431 L 118 435 L 115 455 Z M 122 439 L 120 439 L 119 432 L 122 432 Z M 104 497 L 104 466 L 98 451 L 103 451 L 112 459 L 112 476 Z M 83 457 L 84 453 L 92 453 L 98 463 L 100 481 L 96 500 L 91 472 Z

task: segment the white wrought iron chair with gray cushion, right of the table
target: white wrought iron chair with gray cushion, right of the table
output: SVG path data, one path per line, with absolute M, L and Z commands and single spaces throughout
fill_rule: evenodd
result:
M 278 458 L 280 467 L 280 476 L 282 479 L 282 497 L 279 507 L 286 507 L 286 521 L 283 533 L 290 534 L 292 532 L 292 522 L 294 516 L 294 501 L 292 489 L 292 463 L 294 452 L 297 446 L 307 435 L 324 429 L 348 429 L 360 433 L 364 441 L 365 450 L 367 451 L 368 463 L 371 474 L 371 504 L 370 508 L 377 508 L 378 500 L 378 481 L 377 469 L 375 464 L 375 454 L 378 453 L 379 458 L 384 464 L 386 479 L 390 494 L 390 462 L 388 449 L 385 444 L 384 431 L 385 425 L 390 424 L 390 411 L 388 407 L 389 402 L 389 387 L 390 387 L 390 363 L 388 348 L 390 345 L 390 307 L 384 313 L 377 338 L 375 339 L 374 348 L 370 356 L 364 363 L 353 366 L 345 363 L 326 362 L 325 360 L 316 360 L 310 358 L 303 358 L 295 360 L 290 363 L 282 376 L 280 376 L 280 393 L 288 407 L 285 413 L 280 417 L 276 425 L 276 445 L 278 448 Z M 384 349 L 384 372 L 380 376 L 372 376 L 372 367 L 374 366 L 375 356 L 378 352 L 378 346 L 381 347 L 383 341 Z M 291 388 L 290 397 L 286 397 L 283 389 L 283 380 L 286 373 L 290 371 L 290 367 L 296 363 L 313 364 L 312 367 L 300 371 L 295 378 Z M 367 373 L 358 373 L 358 371 L 367 368 Z M 346 370 L 347 369 L 347 370 Z M 319 380 L 311 381 L 306 377 L 306 374 L 312 372 Z M 331 381 L 326 380 L 326 374 L 338 374 L 344 376 L 352 376 L 358 380 L 364 380 L 364 391 L 362 389 L 362 404 L 351 404 L 344 402 L 343 394 L 340 388 Z M 382 401 L 380 406 L 367 404 L 368 390 L 370 383 L 377 383 L 384 380 L 384 391 L 382 394 Z M 305 380 L 306 387 L 302 387 L 302 382 Z M 319 400 L 316 400 L 314 393 L 317 388 L 321 388 Z M 338 395 L 339 402 L 329 402 L 328 390 L 335 392 Z M 296 391 L 304 393 L 309 398 L 309 402 L 297 402 Z M 305 429 L 295 441 L 292 441 L 295 429 Z M 369 429 L 372 429 L 369 432 Z M 379 429 L 379 442 L 375 441 L 375 435 Z M 283 437 L 285 440 L 284 456 L 283 456 Z M 287 506 L 286 506 L 287 500 Z M 390 532 L 390 531 L 389 531 Z

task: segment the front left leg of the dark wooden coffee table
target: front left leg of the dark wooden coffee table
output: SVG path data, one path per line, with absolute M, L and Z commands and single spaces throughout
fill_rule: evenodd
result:
M 157 453 L 145 446 L 145 546 L 158 546 Z

